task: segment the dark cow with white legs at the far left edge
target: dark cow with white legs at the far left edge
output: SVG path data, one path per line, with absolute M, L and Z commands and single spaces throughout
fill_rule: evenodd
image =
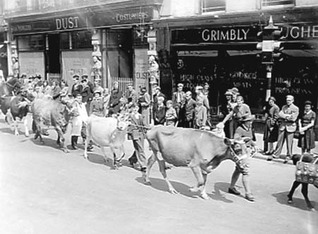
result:
M 16 136 L 19 134 L 17 118 L 23 122 L 25 136 L 29 136 L 28 119 L 26 116 L 28 112 L 30 112 L 30 103 L 33 100 L 34 96 L 26 90 L 18 91 L 18 95 L 16 96 L 0 98 L 0 109 L 4 115 L 6 115 L 6 122 L 9 122 L 9 119 L 12 118 Z M 10 110 L 10 112 L 8 112 L 8 110 Z

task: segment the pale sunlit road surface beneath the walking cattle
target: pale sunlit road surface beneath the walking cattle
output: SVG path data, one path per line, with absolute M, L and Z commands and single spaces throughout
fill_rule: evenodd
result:
M 55 144 L 57 134 L 49 133 L 41 145 L 33 134 L 14 136 L 0 119 L 0 233 L 318 233 L 315 187 L 309 186 L 315 211 L 307 210 L 300 188 L 294 203 L 287 204 L 293 165 L 252 158 L 256 201 L 250 202 L 227 193 L 235 165 L 225 161 L 208 176 L 211 200 L 206 201 L 189 192 L 196 183 L 189 168 L 167 171 L 179 192 L 172 195 L 158 165 L 146 186 L 126 160 L 119 170 L 110 170 L 98 147 L 85 160 L 82 149 L 63 153 Z M 66 139 L 69 144 L 69 132 Z M 125 151 L 133 152 L 130 141 Z M 240 180 L 237 187 L 244 192 Z

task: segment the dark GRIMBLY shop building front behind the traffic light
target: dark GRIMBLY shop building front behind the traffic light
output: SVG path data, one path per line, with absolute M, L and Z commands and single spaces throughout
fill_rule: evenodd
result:
M 219 116 L 225 90 L 235 86 L 252 112 L 261 117 L 267 78 L 257 43 L 270 16 L 282 33 L 271 94 L 280 106 L 285 95 L 291 94 L 301 108 L 305 100 L 312 100 L 317 108 L 315 0 L 188 0 L 182 1 L 182 8 L 178 0 L 164 1 L 154 27 L 158 50 L 165 52 L 169 61 L 170 71 L 160 71 L 160 82 L 168 86 L 165 91 L 171 93 L 179 82 L 189 90 L 208 83 L 212 114 Z

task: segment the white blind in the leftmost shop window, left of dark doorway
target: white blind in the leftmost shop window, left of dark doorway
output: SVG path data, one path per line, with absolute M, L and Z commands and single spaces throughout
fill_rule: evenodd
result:
M 27 77 L 40 74 L 45 77 L 45 55 L 43 52 L 20 52 L 19 64 L 20 74 L 25 73 Z

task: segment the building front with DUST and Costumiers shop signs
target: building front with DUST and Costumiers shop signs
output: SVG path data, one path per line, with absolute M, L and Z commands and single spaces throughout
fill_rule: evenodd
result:
M 73 74 L 88 74 L 106 87 L 148 86 L 147 35 L 160 6 L 160 0 L 6 1 L 11 56 L 27 76 L 71 85 Z

